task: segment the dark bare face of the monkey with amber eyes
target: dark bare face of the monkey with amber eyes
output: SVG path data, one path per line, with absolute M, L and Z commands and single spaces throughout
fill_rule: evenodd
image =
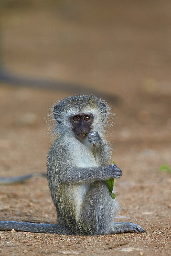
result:
M 73 115 L 70 116 L 70 121 L 75 135 L 83 139 L 87 136 L 85 133 L 89 133 L 91 130 L 93 115 Z

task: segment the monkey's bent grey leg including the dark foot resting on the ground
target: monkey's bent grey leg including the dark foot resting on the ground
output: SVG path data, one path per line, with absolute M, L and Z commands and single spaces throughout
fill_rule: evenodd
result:
M 82 208 L 82 217 L 85 222 L 87 221 L 92 225 L 92 233 L 94 235 L 129 231 L 145 232 L 140 225 L 134 222 L 114 222 L 119 206 L 116 199 L 111 197 L 105 182 L 94 182 L 90 186 Z

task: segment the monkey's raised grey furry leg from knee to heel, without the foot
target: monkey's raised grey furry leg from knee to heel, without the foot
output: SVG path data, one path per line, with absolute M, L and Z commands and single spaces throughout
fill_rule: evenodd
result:
M 118 204 L 111 197 L 105 181 L 95 181 L 82 204 L 82 227 L 91 227 L 92 235 L 109 234 L 117 209 Z

